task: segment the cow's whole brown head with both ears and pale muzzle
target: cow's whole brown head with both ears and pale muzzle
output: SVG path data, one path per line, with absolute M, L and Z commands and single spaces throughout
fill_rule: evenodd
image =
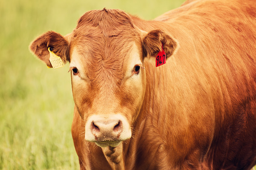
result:
M 85 139 L 100 147 L 116 147 L 131 138 L 146 88 L 145 57 L 163 48 L 172 55 L 177 44 L 163 31 L 145 32 L 119 10 L 85 13 L 65 37 L 49 31 L 30 49 L 48 67 L 49 47 L 70 62 L 73 98 L 85 122 Z

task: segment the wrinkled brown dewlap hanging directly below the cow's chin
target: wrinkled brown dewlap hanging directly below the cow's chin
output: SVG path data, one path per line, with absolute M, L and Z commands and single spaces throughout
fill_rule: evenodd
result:
M 117 147 L 102 147 L 105 158 L 113 170 L 124 170 L 125 164 L 123 159 L 123 144 L 122 142 Z

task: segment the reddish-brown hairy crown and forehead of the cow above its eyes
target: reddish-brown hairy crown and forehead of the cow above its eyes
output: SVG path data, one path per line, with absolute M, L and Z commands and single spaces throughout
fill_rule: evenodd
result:
M 134 42 L 141 46 L 140 31 L 131 17 L 124 11 L 104 8 L 88 11 L 79 19 L 70 48 L 76 48 L 92 72 L 107 69 L 120 73 Z

